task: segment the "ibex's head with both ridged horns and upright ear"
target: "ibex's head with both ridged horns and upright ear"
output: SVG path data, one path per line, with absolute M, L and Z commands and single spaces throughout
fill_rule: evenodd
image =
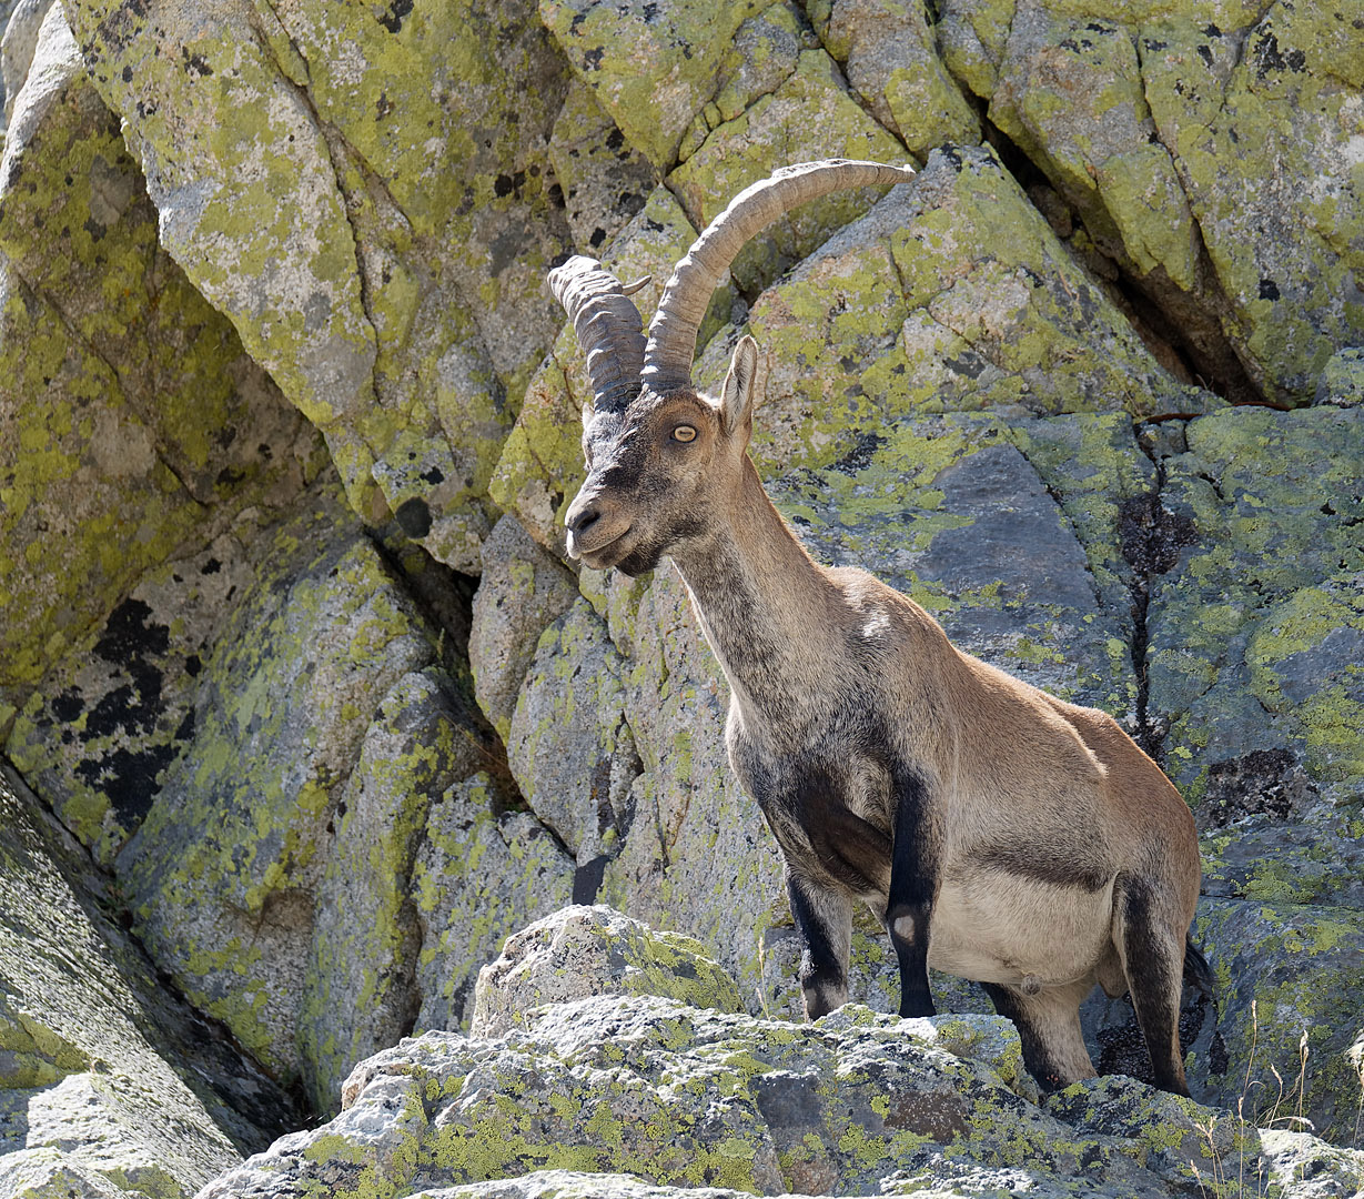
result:
M 753 428 L 757 344 L 735 346 L 720 397 L 692 386 L 692 357 L 711 293 L 739 250 L 797 205 L 844 187 L 903 183 L 908 166 L 829 160 L 787 166 L 730 203 L 693 243 L 663 291 L 648 341 L 629 288 L 591 258 L 550 273 L 588 356 L 582 411 L 588 477 L 569 506 L 569 554 L 640 574 L 711 527 L 741 477 Z

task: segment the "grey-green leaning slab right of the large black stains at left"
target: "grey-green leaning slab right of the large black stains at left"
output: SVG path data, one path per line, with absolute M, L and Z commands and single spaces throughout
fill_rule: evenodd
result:
M 119 855 L 162 968 L 285 1075 L 337 805 L 374 712 L 435 641 L 336 494 L 311 498 L 258 550 L 194 737 Z

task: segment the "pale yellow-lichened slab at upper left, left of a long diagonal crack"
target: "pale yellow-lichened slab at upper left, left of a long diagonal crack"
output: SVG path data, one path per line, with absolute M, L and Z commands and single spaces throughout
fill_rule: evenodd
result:
M 297 56 L 277 63 L 248 14 L 71 8 L 95 86 L 128 120 L 161 243 L 285 396 L 326 426 L 372 404 L 375 334 L 326 140 L 286 74 Z

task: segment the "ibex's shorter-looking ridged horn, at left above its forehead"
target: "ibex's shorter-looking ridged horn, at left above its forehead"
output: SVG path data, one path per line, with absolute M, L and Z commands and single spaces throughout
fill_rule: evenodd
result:
M 648 277 L 622 286 L 600 262 L 582 255 L 550 271 L 550 291 L 573 321 L 588 356 L 592 406 L 599 411 L 618 411 L 640 391 L 644 322 L 629 296 L 647 282 Z

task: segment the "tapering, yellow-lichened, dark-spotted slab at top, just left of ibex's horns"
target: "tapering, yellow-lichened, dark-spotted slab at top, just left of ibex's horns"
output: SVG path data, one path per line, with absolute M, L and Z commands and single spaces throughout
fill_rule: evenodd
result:
M 326 123 L 378 338 L 378 406 L 352 430 L 408 536 L 475 572 L 496 518 L 488 476 L 558 327 L 543 278 L 569 231 L 544 142 L 567 72 L 529 3 L 280 12 Z

